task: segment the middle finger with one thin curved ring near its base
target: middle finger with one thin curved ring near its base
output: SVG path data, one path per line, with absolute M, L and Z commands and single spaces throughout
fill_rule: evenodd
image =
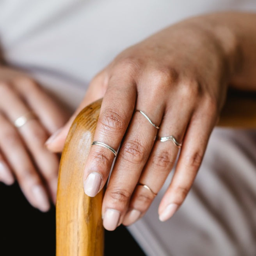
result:
M 137 109 L 159 125 L 163 109 L 145 106 L 138 100 Z M 141 106 L 141 107 L 140 107 Z M 150 113 L 150 114 L 149 114 Z M 140 112 L 135 112 L 111 174 L 102 205 L 103 226 L 114 230 L 122 222 L 130 196 L 139 180 L 154 144 L 157 129 Z

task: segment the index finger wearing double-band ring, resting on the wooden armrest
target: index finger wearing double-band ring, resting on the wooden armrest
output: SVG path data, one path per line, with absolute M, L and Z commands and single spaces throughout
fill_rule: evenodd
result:
M 102 101 L 94 141 L 104 143 L 117 150 L 132 118 L 136 101 L 135 82 L 130 77 L 120 75 L 110 78 Z M 84 191 L 95 196 L 104 186 L 112 162 L 113 151 L 96 144 L 91 147 L 84 170 Z

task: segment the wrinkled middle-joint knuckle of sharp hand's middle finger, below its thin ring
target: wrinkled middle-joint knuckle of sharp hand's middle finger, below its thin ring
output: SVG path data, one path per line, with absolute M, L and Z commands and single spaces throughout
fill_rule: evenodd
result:
M 124 143 L 121 156 L 128 162 L 139 163 L 144 159 L 145 153 L 145 147 L 138 140 L 133 140 Z

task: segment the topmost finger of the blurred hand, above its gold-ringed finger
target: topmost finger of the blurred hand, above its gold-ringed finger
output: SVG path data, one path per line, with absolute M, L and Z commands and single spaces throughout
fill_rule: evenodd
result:
M 52 134 L 56 132 L 68 119 L 59 104 L 46 94 L 36 82 L 27 77 L 18 77 L 12 81 L 13 86 L 26 101 L 46 128 Z

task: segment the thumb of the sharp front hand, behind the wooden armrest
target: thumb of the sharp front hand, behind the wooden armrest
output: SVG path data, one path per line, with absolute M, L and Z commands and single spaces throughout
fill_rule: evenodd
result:
M 104 84 L 106 84 L 104 83 L 104 80 L 106 81 L 104 78 L 103 75 L 99 74 L 92 80 L 84 99 L 76 109 L 75 113 L 70 117 L 69 121 L 62 128 L 53 133 L 53 135 L 45 142 L 45 146 L 48 150 L 55 153 L 62 151 L 66 137 L 68 136 L 69 128 L 79 112 L 93 101 L 103 98 L 107 89 L 107 86 L 104 86 Z

